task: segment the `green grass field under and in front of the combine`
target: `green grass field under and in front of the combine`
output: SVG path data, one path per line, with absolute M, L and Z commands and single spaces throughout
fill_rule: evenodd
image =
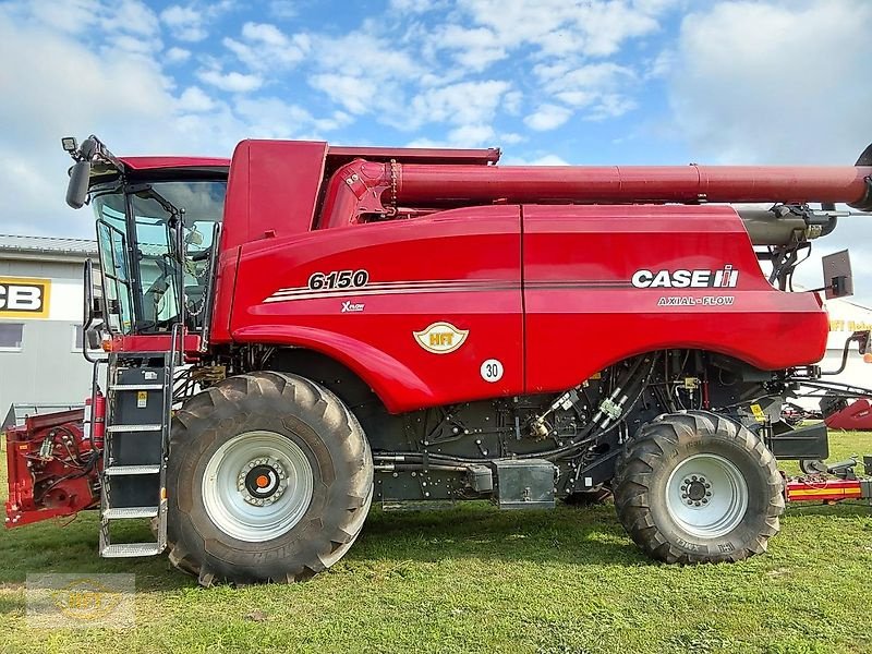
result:
M 834 434 L 832 450 L 872 452 L 872 435 Z M 649 560 L 610 505 L 373 510 L 342 561 L 296 585 L 203 590 L 165 557 L 96 550 L 93 512 L 0 533 L 0 651 L 872 652 L 859 502 L 789 507 L 768 554 L 731 566 Z M 135 573 L 136 628 L 28 628 L 28 572 Z

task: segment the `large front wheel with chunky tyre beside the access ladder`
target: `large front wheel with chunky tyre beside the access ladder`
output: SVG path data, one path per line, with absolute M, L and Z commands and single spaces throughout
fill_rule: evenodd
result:
M 356 419 L 295 375 L 197 395 L 173 417 L 170 452 L 169 558 L 203 585 L 311 578 L 348 552 L 373 497 Z

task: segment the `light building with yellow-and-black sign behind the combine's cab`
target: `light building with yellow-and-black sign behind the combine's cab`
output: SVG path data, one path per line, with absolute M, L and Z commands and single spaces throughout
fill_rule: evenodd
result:
M 95 241 L 0 234 L 0 425 L 12 404 L 81 404 L 83 266 Z

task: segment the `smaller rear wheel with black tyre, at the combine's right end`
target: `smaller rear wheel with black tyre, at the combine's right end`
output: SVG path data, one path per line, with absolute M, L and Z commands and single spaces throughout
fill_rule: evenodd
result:
M 627 533 L 668 564 L 762 554 L 784 512 L 772 452 L 746 427 L 702 411 L 644 425 L 617 462 L 614 487 Z

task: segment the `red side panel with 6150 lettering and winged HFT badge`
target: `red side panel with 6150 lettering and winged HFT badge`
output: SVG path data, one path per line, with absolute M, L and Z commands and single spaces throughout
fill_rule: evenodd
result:
M 313 272 L 361 269 L 368 272 L 366 287 L 306 290 Z M 284 298 L 276 294 L 281 289 Z M 364 306 L 343 313 L 347 301 Z M 413 332 L 437 322 L 468 330 L 463 344 L 446 353 L 420 346 Z M 395 412 L 519 393 L 519 207 L 458 209 L 245 245 L 231 330 L 238 342 L 296 344 L 334 356 Z M 487 359 L 505 366 L 496 383 L 480 373 Z

